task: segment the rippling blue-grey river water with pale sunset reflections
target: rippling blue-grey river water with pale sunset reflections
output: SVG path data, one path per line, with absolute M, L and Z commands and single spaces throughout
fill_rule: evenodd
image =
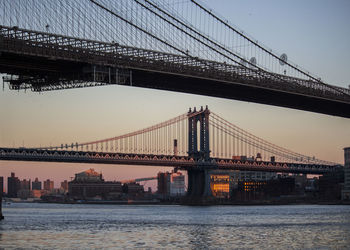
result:
M 0 248 L 350 249 L 350 206 L 12 203 Z

